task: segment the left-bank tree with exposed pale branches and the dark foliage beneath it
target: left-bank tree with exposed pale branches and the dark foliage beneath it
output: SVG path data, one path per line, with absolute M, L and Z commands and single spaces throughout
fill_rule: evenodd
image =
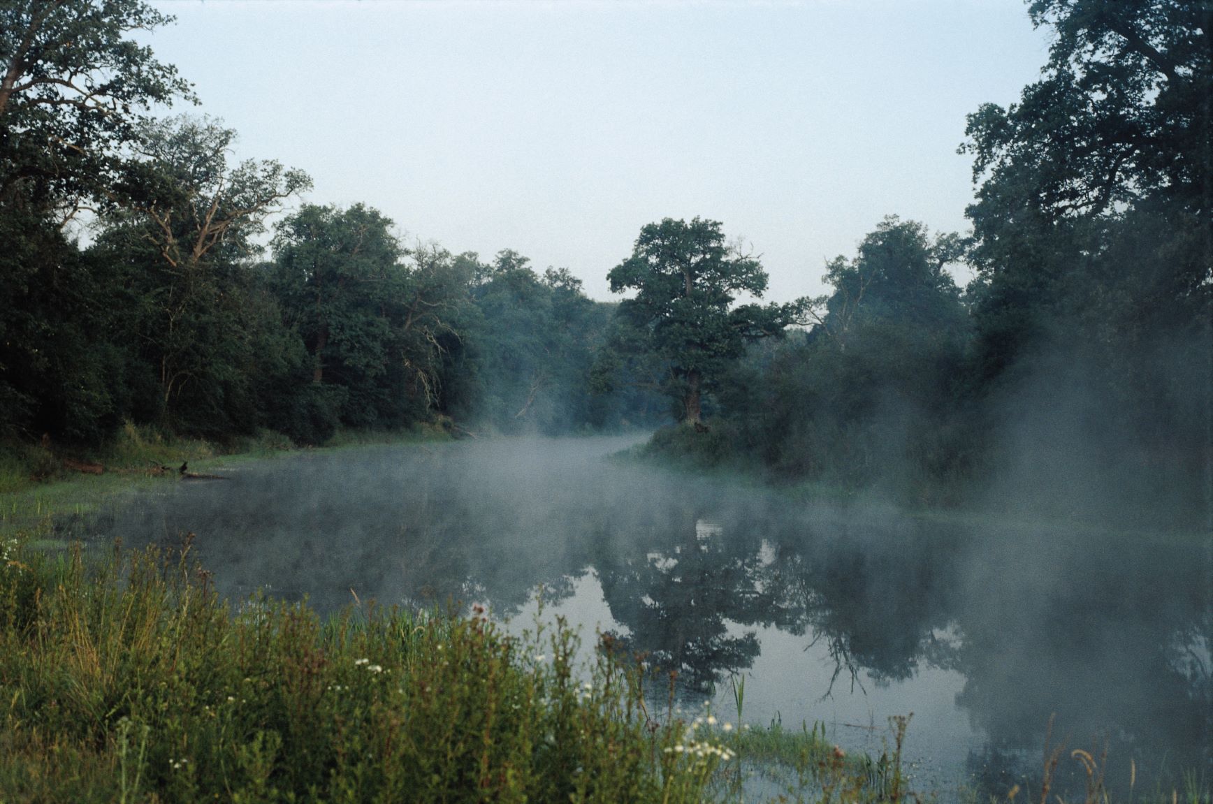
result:
M 126 269 L 125 342 L 158 399 L 139 417 L 212 438 L 258 423 L 254 380 L 290 374 L 291 342 L 245 260 L 264 218 L 309 179 L 273 161 L 228 162 L 234 132 L 176 118 L 149 126 L 118 187 L 123 211 L 95 250 Z M 260 371 L 258 371 L 260 369 Z

